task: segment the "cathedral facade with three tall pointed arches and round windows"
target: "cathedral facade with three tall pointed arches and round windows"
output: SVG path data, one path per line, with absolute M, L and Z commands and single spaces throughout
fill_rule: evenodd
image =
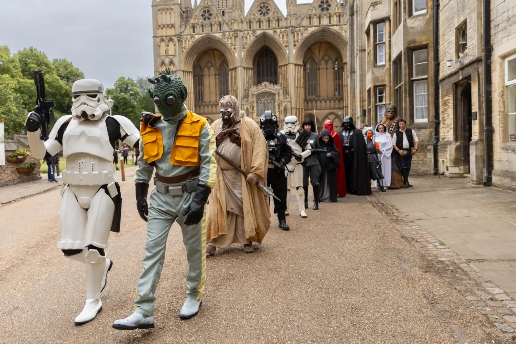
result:
M 346 4 L 288 0 L 286 17 L 272 0 L 244 8 L 243 0 L 153 0 L 155 74 L 180 75 L 188 108 L 209 122 L 232 94 L 256 121 L 272 110 L 280 120 L 292 114 L 339 127 L 354 111 Z

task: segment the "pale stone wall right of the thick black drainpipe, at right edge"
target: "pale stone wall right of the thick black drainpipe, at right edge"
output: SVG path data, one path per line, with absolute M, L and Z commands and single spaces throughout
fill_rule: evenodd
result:
M 516 142 L 510 142 L 505 59 L 516 54 L 516 2 L 491 1 L 493 185 L 516 190 Z

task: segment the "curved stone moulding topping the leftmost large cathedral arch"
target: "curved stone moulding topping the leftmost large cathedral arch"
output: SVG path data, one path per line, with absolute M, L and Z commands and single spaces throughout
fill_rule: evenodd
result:
M 193 71 L 193 64 L 197 57 L 210 49 L 218 50 L 224 55 L 228 61 L 229 69 L 237 67 L 235 54 L 226 42 L 212 35 L 204 35 L 195 40 L 186 51 L 183 59 L 183 69 Z

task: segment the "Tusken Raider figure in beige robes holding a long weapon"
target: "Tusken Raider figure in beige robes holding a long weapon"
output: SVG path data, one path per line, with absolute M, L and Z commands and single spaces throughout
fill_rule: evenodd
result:
M 240 111 L 234 96 L 219 102 L 220 119 L 212 124 L 217 150 L 248 173 L 241 174 L 216 156 L 215 188 L 210 195 L 207 225 L 207 252 L 232 243 L 244 244 L 253 252 L 252 242 L 261 243 L 270 226 L 268 200 L 256 182 L 267 180 L 267 144 L 259 126 Z M 231 114 L 232 120 L 224 120 Z

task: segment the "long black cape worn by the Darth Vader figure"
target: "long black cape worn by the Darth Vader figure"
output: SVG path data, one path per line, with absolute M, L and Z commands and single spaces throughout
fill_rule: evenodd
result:
M 337 134 L 343 137 L 343 130 L 340 130 Z M 342 142 L 341 142 L 342 145 Z M 367 163 L 367 145 L 365 143 L 364 135 L 360 129 L 353 129 L 353 152 L 352 152 L 353 166 L 346 169 L 346 186 L 348 192 L 357 195 L 370 195 L 373 194 L 371 190 L 371 177 L 369 165 Z M 346 163 L 346 153 L 344 153 L 344 146 L 342 149 L 344 157 L 344 163 Z

